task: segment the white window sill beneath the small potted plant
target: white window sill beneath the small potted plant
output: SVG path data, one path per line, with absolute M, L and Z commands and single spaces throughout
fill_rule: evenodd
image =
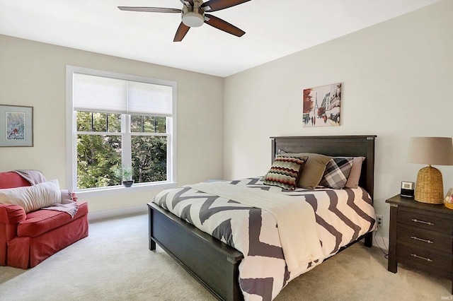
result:
M 164 190 L 168 188 L 174 188 L 178 186 L 178 182 L 164 182 L 159 184 L 142 184 L 136 183 L 131 187 L 124 186 L 113 186 L 106 188 L 96 188 L 96 189 L 82 189 L 76 190 L 77 197 L 79 199 L 89 199 L 98 196 L 112 196 L 115 194 L 130 194 L 133 192 L 141 191 L 153 191 L 153 190 Z

